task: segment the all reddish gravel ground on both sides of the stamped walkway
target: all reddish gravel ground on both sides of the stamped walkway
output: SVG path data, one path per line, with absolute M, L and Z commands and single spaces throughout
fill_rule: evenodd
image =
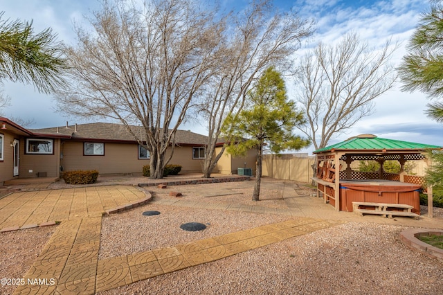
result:
M 166 197 L 161 189 L 150 190 L 154 198 Z M 191 190 L 181 187 L 186 199 L 201 199 Z M 251 193 L 247 189 L 233 191 L 237 194 L 209 199 L 253 204 L 244 196 Z M 278 194 L 269 187 L 260 204 L 284 206 Z M 143 216 L 148 210 L 161 215 Z M 441 208 L 435 213 L 441 216 Z M 170 247 L 288 219 L 151 204 L 104 218 L 99 256 Z M 179 229 L 183 222 L 210 224 L 190 233 Z M 443 263 L 406 247 L 399 240 L 404 229 L 349 222 L 100 294 L 443 294 Z

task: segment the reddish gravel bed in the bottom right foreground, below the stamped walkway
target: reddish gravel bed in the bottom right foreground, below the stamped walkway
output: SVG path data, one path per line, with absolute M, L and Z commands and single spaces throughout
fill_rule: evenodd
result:
M 350 222 L 100 294 L 443 294 L 402 226 Z

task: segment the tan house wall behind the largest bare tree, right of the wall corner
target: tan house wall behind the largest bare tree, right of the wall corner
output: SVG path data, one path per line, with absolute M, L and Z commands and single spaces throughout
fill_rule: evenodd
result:
M 105 143 L 104 156 L 84 156 L 83 142 L 65 141 L 62 146 L 64 171 L 98 170 L 100 174 L 141 174 L 149 159 L 138 159 L 134 143 Z M 175 147 L 170 164 L 181 165 L 182 172 L 201 172 L 201 160 L 192 159 L 192 147 Z

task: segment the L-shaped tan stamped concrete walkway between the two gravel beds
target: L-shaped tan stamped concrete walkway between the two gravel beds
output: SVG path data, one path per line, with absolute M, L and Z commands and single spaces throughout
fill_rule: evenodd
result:
M 297 218 L 174 247 L 98 260 L 100 217 L 58 226 L 14 294 L 94 294 L 264 247 L 343 222 Z M 52 284 L 53 283 L 53 284 Z

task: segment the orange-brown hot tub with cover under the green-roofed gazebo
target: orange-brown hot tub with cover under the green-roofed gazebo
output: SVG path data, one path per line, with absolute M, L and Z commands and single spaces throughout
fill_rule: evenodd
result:
M 340 210 L 352 211 L 352 202 L 376 202 L 407 204 L 413 206 L 412 212 L 419 215 L 420 188 L 420 185 L 399 181 L 341 180 Z

